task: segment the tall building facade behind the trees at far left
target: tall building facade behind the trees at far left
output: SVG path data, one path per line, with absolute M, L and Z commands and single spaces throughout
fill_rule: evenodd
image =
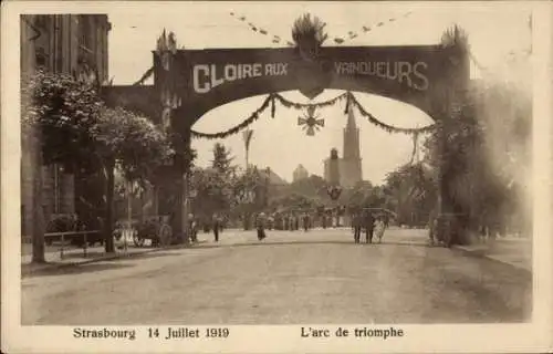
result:
M 36 70 L 72 75 L 97 84 L 107 82 L 106 14 L 23 14 L 21 29 L 21 75 Z M 29 132 L 21 132 L 22 236 L 32 233 L 33 178 L 39 146 Z M 56 165 L 42 166 L 42 204 L 46 221 L 52 216 L 75 212 L 75 180 Z

